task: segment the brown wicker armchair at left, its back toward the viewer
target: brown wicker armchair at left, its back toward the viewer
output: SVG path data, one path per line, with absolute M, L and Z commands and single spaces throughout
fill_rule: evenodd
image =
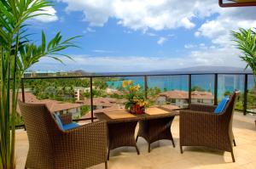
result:
M 25 168 L 84 169 L 107 163 L 107 125 L 98 121 L 62 131 L 44 104 L 25 104 L 19 100 L 25 121 L 29 150 Z M 64 124 L 71 115 L 61 116 Z

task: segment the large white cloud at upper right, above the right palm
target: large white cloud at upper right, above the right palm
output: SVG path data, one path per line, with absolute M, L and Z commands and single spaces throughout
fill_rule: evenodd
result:
M 217 11 L 216 11 L 217 12 Z M 218 11 L 218 17 L 207 20 L 195 37 L 207 37 L 212 43 L 230 46 L 232 37 L 230 31 L 237 31 L 239 27 L 250 28 L 256 26 L 256 11 L 254 8 L 222 8 Z

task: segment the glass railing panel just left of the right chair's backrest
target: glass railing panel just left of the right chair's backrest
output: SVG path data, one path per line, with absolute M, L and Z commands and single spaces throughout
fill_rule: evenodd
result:
M 192 104 L 214 104 L 214 75 L 192 75 L 191 84 Z

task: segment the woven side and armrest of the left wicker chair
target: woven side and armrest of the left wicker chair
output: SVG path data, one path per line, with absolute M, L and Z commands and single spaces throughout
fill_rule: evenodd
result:
M 107 161 L 107 124 L 96 121 L 58 134 L 55 157 L 72 165 L 89 167 Z M 68 168 L 68 167 L 67 167 Z

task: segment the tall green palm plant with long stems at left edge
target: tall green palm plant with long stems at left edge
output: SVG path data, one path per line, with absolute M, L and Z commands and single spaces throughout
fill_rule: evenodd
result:
M 48 0 L 0 0 L 0 169 L 15 168 L 17 88 L 24 71 L 42 57 L 69 58 L 60 52 L 76 46 L 76 37 L 62 40 L 61 33 L 47 42 L 42 31 L 40 45 L 28 39 L 26 21 L 46 14 L 44 8 L 51 5 Z

